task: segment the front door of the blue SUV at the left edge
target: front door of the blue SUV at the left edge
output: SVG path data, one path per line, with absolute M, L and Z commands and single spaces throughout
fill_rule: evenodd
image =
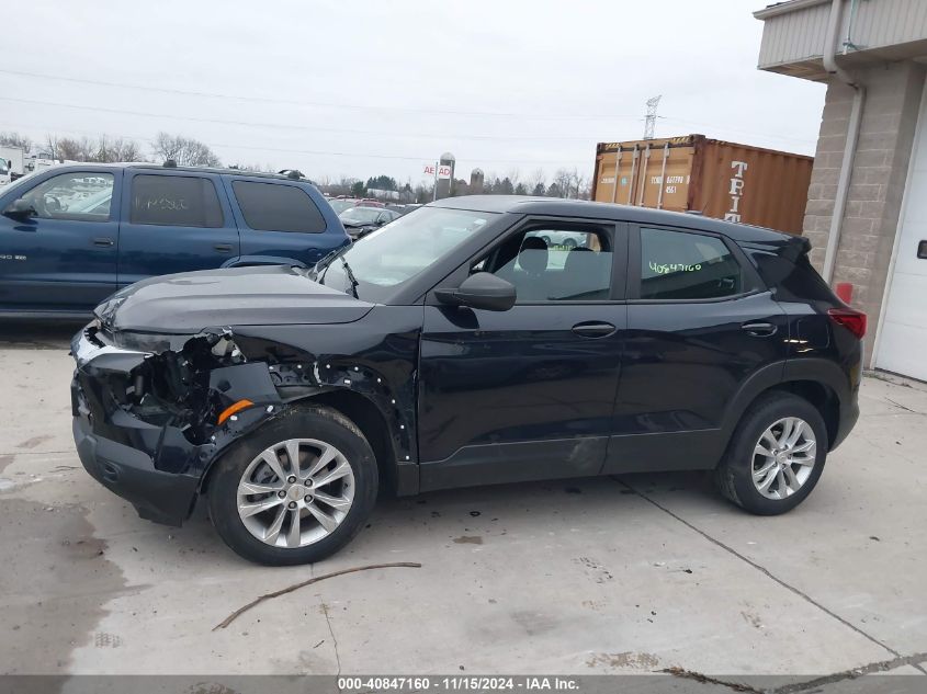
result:
M 0 309 L 87 311 L 116 289 L 118 168 L 38 174 L 0 198 L 36 214 L 0 216 Z M 25 187 L 24 187 L 25 186 Z

